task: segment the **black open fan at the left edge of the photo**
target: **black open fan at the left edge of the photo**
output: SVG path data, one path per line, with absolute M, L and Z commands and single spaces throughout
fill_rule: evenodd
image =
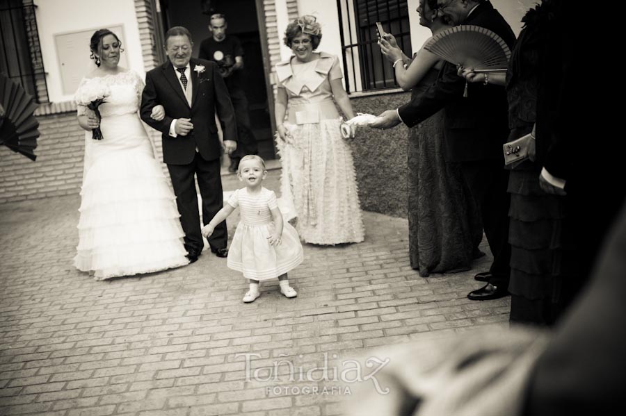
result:
M 35 160 L 39 122 L 33 116 L 37 104 L 24 91 L 0 74 L 0 144 Z

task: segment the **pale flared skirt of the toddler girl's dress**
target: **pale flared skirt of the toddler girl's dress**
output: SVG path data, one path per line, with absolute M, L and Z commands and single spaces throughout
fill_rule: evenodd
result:
M 288 222 L 282 228 L 281 243 L 271 246 L 268 236 L 274 224 L 247 225 L 239 222 L 228 251 L 227 266 L 257 281 L 277 278 L 303 260 L 302 244 L 296 229 Z

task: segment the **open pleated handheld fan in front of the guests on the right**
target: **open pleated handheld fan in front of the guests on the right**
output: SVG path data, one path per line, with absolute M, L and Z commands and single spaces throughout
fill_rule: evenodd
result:
M 469 24 L 454 26 L 434 35 L 424 49 L 454 65 L 474 72 L 506 71 L 511 49 L 492 31 Z

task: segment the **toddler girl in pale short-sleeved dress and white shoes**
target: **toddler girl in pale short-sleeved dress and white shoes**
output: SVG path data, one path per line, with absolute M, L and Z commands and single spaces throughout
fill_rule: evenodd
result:
M 237 176 L 246 188 L 233 192 L 224 208 L 202 228 L 202 235 L 208 238 L 217 224 L 235 208 L 241 208 L 241 222 L 230 244 L 227 266 L 242 272 L 243 277 L 250 280 L 250 290 L 243 297 L 246 303 L 261 295 L 259 281 L 276 277 L 280 292 L 287 298 L 296 297 L 296 290 L 289 286 L 287 272 L 303 260 L 298 232 L 283 221 L 274 192 L 262 186 L 266 175 L 262 158 L 243 156 Z

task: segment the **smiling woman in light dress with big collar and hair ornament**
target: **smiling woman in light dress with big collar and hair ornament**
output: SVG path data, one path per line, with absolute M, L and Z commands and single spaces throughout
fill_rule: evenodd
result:
M 335 102 L 348 119 L 354 111 L 337 56 L 314 52 L 320 40 L 315 17 L 294 20 L 284 37 L 294 56 L 276 65 L 282 199 L 297 215 L 296 229 L 305 242 L 361 242 L 364 226 L 352 154 Z

